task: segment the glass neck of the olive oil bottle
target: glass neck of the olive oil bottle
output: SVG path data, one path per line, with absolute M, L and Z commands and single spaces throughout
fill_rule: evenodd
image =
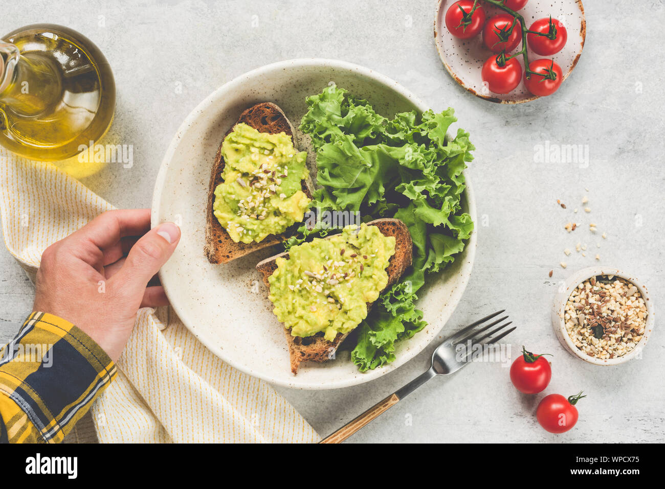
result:
M 0 108 L 35 116 L 57 104 L 61 80 L 45 56 L 23 56 L 10 43 L 0 43 Z

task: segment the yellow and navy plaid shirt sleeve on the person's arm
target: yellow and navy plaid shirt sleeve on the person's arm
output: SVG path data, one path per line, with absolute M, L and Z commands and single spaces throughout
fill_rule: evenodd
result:
M 0 349 L 0 442 L 61 442 L 116 375 L 74 324 L 33 312 Z

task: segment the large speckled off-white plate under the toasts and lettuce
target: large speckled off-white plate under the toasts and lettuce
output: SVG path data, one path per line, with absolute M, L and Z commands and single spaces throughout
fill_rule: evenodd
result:
M 267 289 L 254 266 L 273 254 L 256 252 L 229 264 L 209 264 L 203 255 L 205 205 L 210 169 L 223 135 L 240 113 L 257 102 L 279 105 L 298 126 L 307 111 L 305 97 L 331 81 L 366 98 L 380 114 L 426 106 L 405 88 L 367 68 L 323 59 L 289 60 L 243 74 L 218 88 L 194 109 L 171 142 L 162 162 L 152 201 L 152 225 L 174 221 L 182 228 L 180 245 L 160 272 L 171 304 L 184 324 L 213 353 L 233 367 L 271 383 L 303 389 L 333 389 L 376 379 L 422 351 L 450 318 L 466 287 L 475 233 L 454 266 L 432 276 L 418 306 L 430 325 L 399 343 L 397 359 L 386 367 L 360 373 L 350 351 L 327 363 L 304 363 L 298 375 L 289 369 L 283 326 L 277 321 Z M 297 146 L 304 136 L 297 132 Z M 468 185 L 463 205 L 475 221 Z

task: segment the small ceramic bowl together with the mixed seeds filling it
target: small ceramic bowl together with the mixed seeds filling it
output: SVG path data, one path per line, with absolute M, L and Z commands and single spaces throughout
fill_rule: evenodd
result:
M 616 268 L 584 268 L 559 288 L 552 326 L 573 355 L 618 365 L 640 357 L 654 328 L 654 307 L 634 276 Z

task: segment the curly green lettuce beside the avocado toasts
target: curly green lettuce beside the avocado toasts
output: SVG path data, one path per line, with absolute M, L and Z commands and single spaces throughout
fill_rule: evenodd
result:
M 300 128 L 311 136 L 317 155 L 314 205 L 360 211 L 364 221 L 395 217 L 409 228 L 414 244 L 412 266 L 358 326 L 351 356 L 366 371 L 393 361 L 396 342 L 426 326 L 416 292 L 427 274 L 440 272 L 464 250 L 473 222 L 462 211 L 463 171 L 475 148 L 464 130 L 448 139 L 457 120 L 452 108 L 387 119 L 334 84 L 307 104 Z M 287 249 L 321 233 L 305 225 L 298 231 Z

